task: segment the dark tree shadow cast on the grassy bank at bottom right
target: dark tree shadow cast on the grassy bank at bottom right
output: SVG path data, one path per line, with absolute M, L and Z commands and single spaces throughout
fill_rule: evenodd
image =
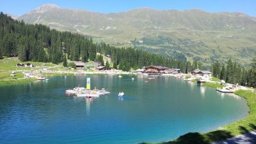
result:
M 238 137 L 233 140 L 227 140 L 227 143 L 234 143 L 233 141 L 237 141 L 238 143 L 240 142 L 256 143 L 256 135 L 250 133 L 252 130 L 256 130 L 256 126 L 253 125 L 252 123 L 250 123 L 249 126 L 250 128 L 239 126 L 240 132 L 247 137 L 246 139 Z M 220 141 L 216 143 L 222 143 L 221 140 L 225 140 L 232 137 L 234 136 L 231 134 L 231 132 L 227 130 L 216 130 L 214 132 L 208 132 L 207 134 L 200 134 L 198 132 L 189 132 L 188 134 L 180 136 L 179 138 L 173 141 L 168 141 L 166 143 L 170 143 L 170 144 L 187 144 L 187 143 L 201 144 L 202 143 L 203 144 L 203 143 L 212 143 L 213 141 Z

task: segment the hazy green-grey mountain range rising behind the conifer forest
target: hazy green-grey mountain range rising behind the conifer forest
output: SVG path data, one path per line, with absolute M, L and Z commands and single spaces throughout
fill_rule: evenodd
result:
M 228 58 L 250 64 L 256 55 L 256 18 L 240 12 L 138 8 L 102 14 L 42 5 L 18 19 L 79 32 L 96 42 L 134 46 L 172 58 L 186 56 L 206 64 Z

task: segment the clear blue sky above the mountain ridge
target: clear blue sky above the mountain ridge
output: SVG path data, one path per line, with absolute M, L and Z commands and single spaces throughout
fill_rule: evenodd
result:
M 201 9 L 207 12 L 243 12 L 256 17 L 256 0 L 0 0 L 0 11 L 20 16 L 44 4 L 93 12 L 122 12 L 149 7 L 157 10 Z

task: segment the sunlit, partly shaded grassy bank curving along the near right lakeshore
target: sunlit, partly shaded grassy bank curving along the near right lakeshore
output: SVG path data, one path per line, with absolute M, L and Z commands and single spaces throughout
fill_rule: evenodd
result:
M 250 115 L 248 117 L 230 123 L 229 125 L 222 126 L 222 130 L 212 130 L 207 133 L 190 132 L 166 143 L 212 143 L 214 141 L 232 138 L 233 136 L 256 130 L 256 92 L 250 90 L 238 90 L 235 94 L 246 99 L 247 104 L 250 107 Z

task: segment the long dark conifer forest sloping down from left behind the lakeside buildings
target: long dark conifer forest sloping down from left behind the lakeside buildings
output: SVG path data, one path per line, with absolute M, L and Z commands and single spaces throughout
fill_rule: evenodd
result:
M 132 47 L 116 48 L 106 43 L 94 43 L 92 38 L 71 32 L 60 32 L 41 24 L 27 24 L 6 14 L 0 14 L 0 56 L 18 56 L 19 60 L 52 62 L 58 64 L 67 59 L 88 62 L 103 58 L 97 53 L 110 54 L 113 67 L 129 71 L 143 66 L 166 66 L 186 71 L 186 63 L 159 54 L 148 53 Z M 109 63 L 109 62 L 108 62 Z

